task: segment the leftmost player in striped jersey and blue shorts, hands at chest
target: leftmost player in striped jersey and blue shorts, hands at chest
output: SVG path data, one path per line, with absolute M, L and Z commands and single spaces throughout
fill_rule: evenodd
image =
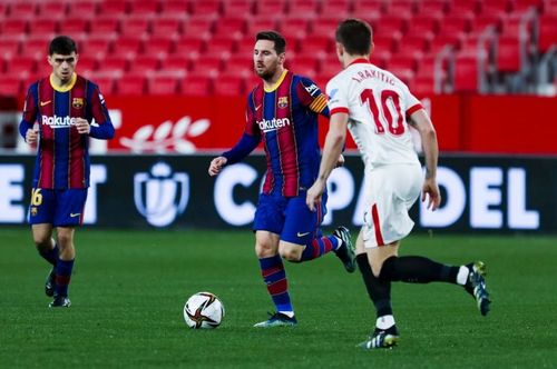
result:
M 74 232 L 82 223 L 89 187 L 89 137 L 114 137 L 99 88 L 76 74 L 77 61 L 72 39 L 59 36 L 51 40 L 48 62 L 52 73 L 29 88 L 19 124 L 26 142 L 38 146 L 29 222 L 40 256 L 52 265 L 45 285 L 47 296 L 53 297 L 52 308 L 71 303 Z

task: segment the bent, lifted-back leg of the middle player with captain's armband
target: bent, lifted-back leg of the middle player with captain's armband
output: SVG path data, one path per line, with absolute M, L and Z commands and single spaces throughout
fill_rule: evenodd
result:
M 311 211 L 304 196 L 289 200 L 278 252 L 289 261 L 302 262 L 333 251 L 352 272 L 355 265 L 349 230 L 339 227 L 333 235 L 323 236 L 321 232 L 320 225 L 326 213 L 325 202 L 326 197 L 317 211 Z

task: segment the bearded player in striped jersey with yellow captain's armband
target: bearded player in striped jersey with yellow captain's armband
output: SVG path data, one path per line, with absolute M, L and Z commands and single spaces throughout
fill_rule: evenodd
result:
M 263 141 L 267 171 L 253 223 L 255 253 L 276 312 L 254 327 L 295 326 L 282 258 L 302 262 L 334 251 L 355 270 L 349 230 L 322 236 L 325 201 L 317 212 L 305 205 L 319 171 L 317 116 L 329 117 L 326 98 L 313 81 L 284 68 L 286 41 L 275 31 L 256 34 L 254 69 L 261 82 L 247 98 L 246 126 L 229 151 L 212 160 L 208 172 L 241 161 Z M 342 154 L 338 156 L 343 161 Z M 281 258 L 282 257 L 282 258 Z

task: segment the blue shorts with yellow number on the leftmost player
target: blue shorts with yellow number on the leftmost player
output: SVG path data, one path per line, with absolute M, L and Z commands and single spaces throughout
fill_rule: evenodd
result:
M 33 188 L 29 206 L 31 225 L 80 226 L 84 222 L 87 189 L 51 190 Z

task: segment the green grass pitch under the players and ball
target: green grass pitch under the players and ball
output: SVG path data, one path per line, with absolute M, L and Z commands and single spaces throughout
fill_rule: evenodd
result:
M 79 229 L 72 307 L 48 309 L 49 270 L 29 228 L 2 228 L 1 368 L 555 368 L 557 239 L 408 238 L 401 255 L 486 261 L 492 310 L 481 317 L 461 288 L 394 283 L 400 346 L 361 351 L 374 311 L 359 272 L 333 255 L 286 263 L 299 326 L 255 329 L 272 310 L 248 230 Z M 353 235 L 355 236 L 355 235 Z M 216 293 L 216 330 L 190 330 L 186 299 Z

